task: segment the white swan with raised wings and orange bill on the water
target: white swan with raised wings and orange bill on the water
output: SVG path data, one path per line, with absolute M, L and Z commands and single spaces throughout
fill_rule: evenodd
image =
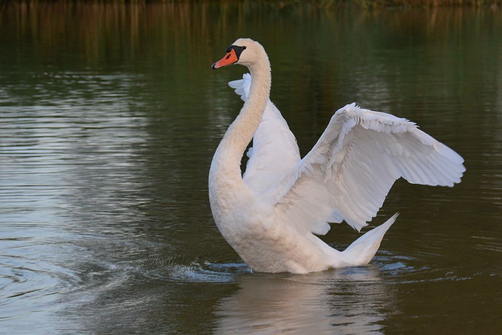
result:
M 400 177 L 426 185 L 460 182 L 465 168 L 456 152 L 406 119 L 354 103 L 336 111 L 301 159 L 295 137 L 269 99 L 264 48 L 238 39 L 226 52 L 213 69 L 242 64 L 250 76 L 229 83 L 245 103 L 214 154 L 209 199 L 219 231 L 253 270 L 307 273 L 367 264 L 397 214 L 343 252 L 314 234 L 324 235 L 328 222 L 342 220 L 360 231 Z M 240 161 L 252 138 L 241 176 Z

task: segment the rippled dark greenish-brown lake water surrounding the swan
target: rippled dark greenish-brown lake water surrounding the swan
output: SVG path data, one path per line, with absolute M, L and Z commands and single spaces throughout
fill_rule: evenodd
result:
M 0 10 L 0 332 L 497 333 L 502 11 L 252 3 Z M 252 273 L 218 233 L 212 154 L 241 101 L 212 71 L 259 40 L 306 154 L 352 101 L 465 158 L 454 188 L 398 181 L 366 267 Z M 357 237 L 336 225 L 323 239 Z

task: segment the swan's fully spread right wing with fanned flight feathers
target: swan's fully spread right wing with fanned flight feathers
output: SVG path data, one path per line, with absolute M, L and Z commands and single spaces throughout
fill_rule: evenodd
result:
M 268 195 L 302 231 L 326 234 L 341 218 L 357 231 L 376 215 L 396 179 L 453 186 L 463 158 L 415 123 L 352 103 Z

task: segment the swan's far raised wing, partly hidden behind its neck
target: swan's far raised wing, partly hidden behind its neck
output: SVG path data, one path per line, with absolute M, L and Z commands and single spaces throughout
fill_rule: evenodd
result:
M 251 76 L 246 73 L 242 79 L 230 81 L 228 85 L 246 101 Z M 243 179 L 257 192 L 280 182 L 300 161 L 296 139 L 279 109 L 270 99 L 265 107 L 262 122 L 253 136 L 253 147 L 249 148 L 246 155 L 249 159 Z

